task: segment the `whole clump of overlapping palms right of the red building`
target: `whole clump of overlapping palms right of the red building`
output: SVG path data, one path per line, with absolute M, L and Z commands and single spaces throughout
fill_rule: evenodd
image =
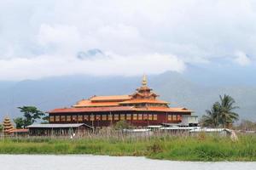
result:
M 238 106 L 235 106 L 236 101 L 230 95 L 224 94 L 224 97 L 219 96 L 220 101 L 212 105 L 211 110 L 207 110 L 207 115 L 202 116 L 201 122 L 204 126 L 210 127 L 229 127 L 230 124 L 239 119 L 239 115 L 234 111 Z

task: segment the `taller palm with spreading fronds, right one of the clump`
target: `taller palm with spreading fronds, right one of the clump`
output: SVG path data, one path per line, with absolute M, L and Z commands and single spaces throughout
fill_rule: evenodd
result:
M 221 103 L 219 122 L 223 127 L 228 127 L 231 123 L 239 119 L 239 115 L 234 112 L 239 107 L 235 106 L 236 101 L 230 95 L 224 94 L 224 97 L 219 96 L 219 99 Z

